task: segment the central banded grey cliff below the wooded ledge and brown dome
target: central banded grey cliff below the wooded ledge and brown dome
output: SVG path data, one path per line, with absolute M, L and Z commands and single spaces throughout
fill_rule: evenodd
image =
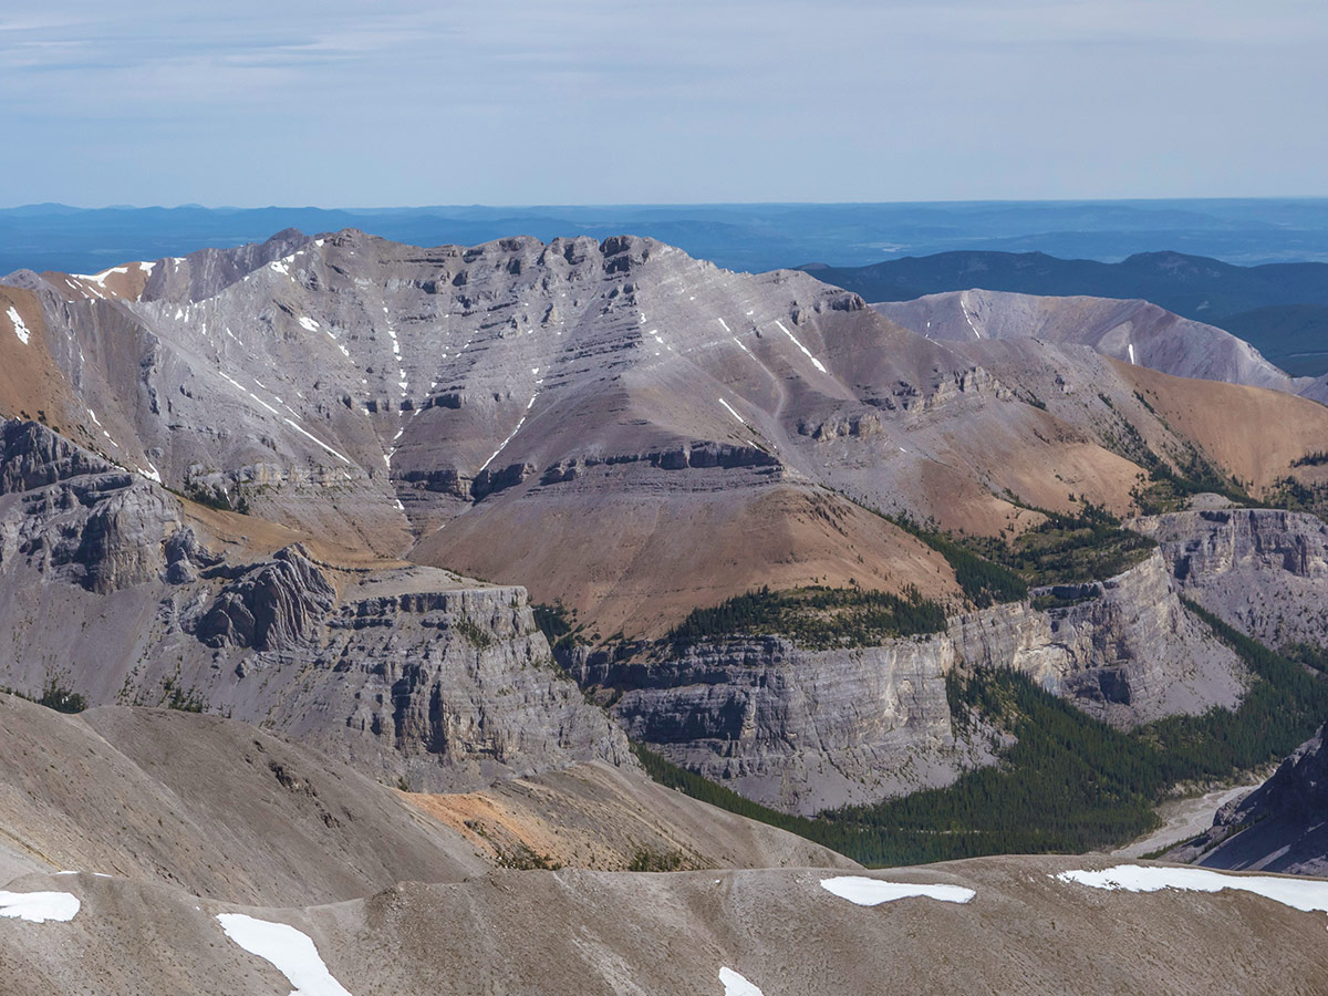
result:
M 705 643 L 659 660 L 582 663 L 622 691 L 628 734 L 675 764 L 811 814 L 954 781 L 989 754 L 956 745 L 946 640 L 811 652 L 780 637 Z

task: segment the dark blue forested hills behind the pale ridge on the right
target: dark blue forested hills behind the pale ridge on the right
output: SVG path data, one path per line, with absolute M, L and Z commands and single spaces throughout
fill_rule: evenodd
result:
M 1240 267 L 1181 252 L 1143 252 L 1120 263 L 1042 252 L 942 252 L 857 268 L 802 268 L 869 301 L 971 288 L 1142 299 L 1244 339 L 1292 376 L 1328 373 L 1328 263 Z

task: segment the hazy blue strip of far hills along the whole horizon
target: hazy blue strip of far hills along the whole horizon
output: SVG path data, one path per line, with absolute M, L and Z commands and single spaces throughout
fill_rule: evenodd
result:
M 96 274 L 126 259 L 259 242 L 282 228 L 363 228 L 416 246 L 631 234 L 746 271 L 809 260 L 855 267 L 954 250 L 1121 260 L 1169 248 L 1243 266 L 1328 260 L 1323 198 L 340 208 L 48 203 L 0 208 L 0 274 L 19 267 Z

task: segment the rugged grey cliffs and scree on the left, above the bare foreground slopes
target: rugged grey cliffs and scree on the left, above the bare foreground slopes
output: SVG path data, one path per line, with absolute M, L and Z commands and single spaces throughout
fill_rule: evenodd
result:
M 300 544 L 228 552 L 142 475 L 32 422 L 0 438 L 0 684 L 224 712 L 440 790 L 633 764 L 554 668 L 523 588 Z

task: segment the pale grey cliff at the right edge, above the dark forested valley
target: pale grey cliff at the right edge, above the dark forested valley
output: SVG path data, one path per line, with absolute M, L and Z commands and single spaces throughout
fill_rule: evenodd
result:
M 1177 584 L 1272 647 L 1328 643 L 1328 525 L 1276 509 L 1215 509 L 1137 519 Z

